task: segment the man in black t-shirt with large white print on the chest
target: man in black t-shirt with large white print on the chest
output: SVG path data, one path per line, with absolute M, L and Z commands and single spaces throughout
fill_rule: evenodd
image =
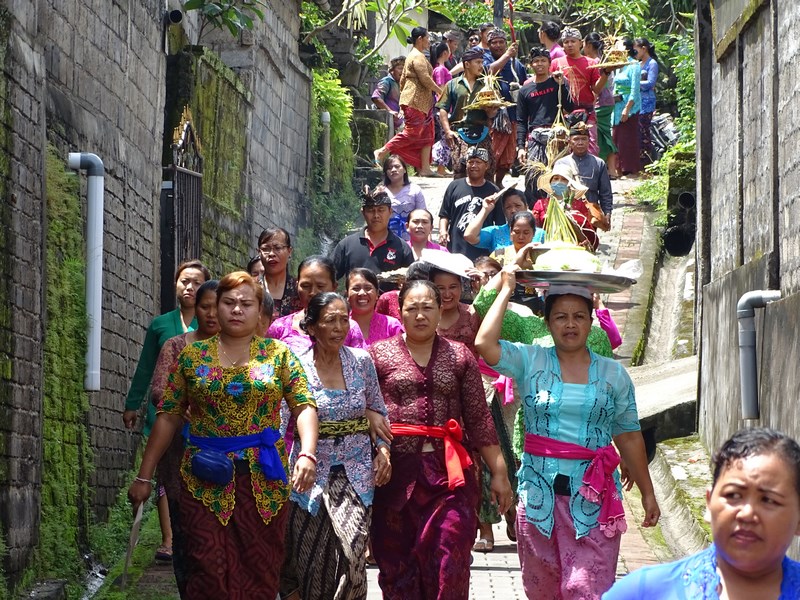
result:
M 467 177 L 454 179 L 447 186 L 439 210 L 439 243 L 447 246 L 450 252 L 464 254 L 472 261 L 489 254 L 489 250 L 473 246 L 464 239 L 464 230 L 480 212 L 483 199 L 498 192 L 497 186 L 486 180 L 488 168 L 489 152 L 486 148 L 470 147 Z M 503 207 L 498 202 L 484 225 L 502 225 L 505 222 Z

